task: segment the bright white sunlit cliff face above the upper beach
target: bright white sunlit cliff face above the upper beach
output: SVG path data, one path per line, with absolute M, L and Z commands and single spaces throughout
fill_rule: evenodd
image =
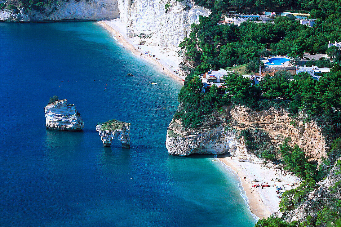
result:
M 189 36 L 191 24 L 199 23 L 199 15 L 211 13 L 194 5 L 192 0 L 124 0 L 118 1 L 118 5 L 121 22 L 127 25 L 127 36 L 152 34 L 146 45 L 164 49 L 178 47 Z

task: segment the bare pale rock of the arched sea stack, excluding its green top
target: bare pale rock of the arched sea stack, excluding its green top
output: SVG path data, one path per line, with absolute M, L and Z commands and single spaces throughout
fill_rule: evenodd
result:
M 103 146 L 110 146 L 113 139 L 117 138 L 122 143 L 123 148 L 130 147 L 130 123 L 120 122 L 121 127 L 116 130 L 101 129 L 102 125 L 96 125 L 96 131 L 99 132 Z

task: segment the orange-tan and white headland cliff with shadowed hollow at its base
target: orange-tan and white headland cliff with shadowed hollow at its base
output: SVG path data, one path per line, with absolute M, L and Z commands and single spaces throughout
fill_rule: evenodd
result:
M 283 142 L 291 146 L 298 144 L 311 161 L 320 162 L 326 156 L 327 144 L 314 122 L 304 123 L 303 115 L 288 116 L 283 109 L 253 111 L 244 106 L 227 109 L 223 116 L 199 129 L 184 128 L 180 120 L 173 119 L 167 130 L 166 147 L 171 155 L 225 154 L 230 153 L 243 161 L 260 161 L 247 151 L 243 138 L 238 137 L 242 129 L 262 129 L 268 133 L 268 142 L 279 148 Z M 230 122 L 227 126 L 227 118 Z M 217 126 L 219 125 L 219 126 Z M 231 130 L 234 129 L 234 130 Z

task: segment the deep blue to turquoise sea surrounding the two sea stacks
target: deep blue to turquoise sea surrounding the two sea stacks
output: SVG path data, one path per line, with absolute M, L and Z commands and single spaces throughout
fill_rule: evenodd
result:
M 0 23 L 0 60 L 1 226 L 254 225 L 219 162 L 168 155 L 181 86 L 98 24 Z M 53 95 L 83 132 L 45 129 Z M 95 125 L 113 118 L 131 122 L 130 149 L 103 147 Z

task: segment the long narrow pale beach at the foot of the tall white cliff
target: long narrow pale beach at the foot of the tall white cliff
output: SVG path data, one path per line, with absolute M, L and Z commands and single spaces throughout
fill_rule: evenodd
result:
M 173 61 L 167 61 L 167 59 L 157 60 L 153 57 L 149 57 L 145 54 L 144 49 L 138 48 L 138 45 L 132 43 L 132 40 L 125 36 L 125 32 L 122 31 L 122 26 L 118 20 L 103 20 L 98 22 L 101 26 L 103 26 L 107 31 L 109 31 L 112 35 L 114 35 L 119 43 L 123 45 L 125 49 L 131 51 L 136 57 L 143 59 L 149 63 L 151 66 L 160 72 L 167 74 L 172 77 L 175 81 L 183 84 L 182 80 L 185 78 L 184 76 L 179 76 L 174 73 L 170 66 L 172 66 Z M 120 32 L 119 32 L 120 31 Z M 161 53 L 157 53 L 155 49 L 153 49 L 153 54 L 157 57 L 161 55 Z M 178 66 L 176 66 L 178 68 Z

